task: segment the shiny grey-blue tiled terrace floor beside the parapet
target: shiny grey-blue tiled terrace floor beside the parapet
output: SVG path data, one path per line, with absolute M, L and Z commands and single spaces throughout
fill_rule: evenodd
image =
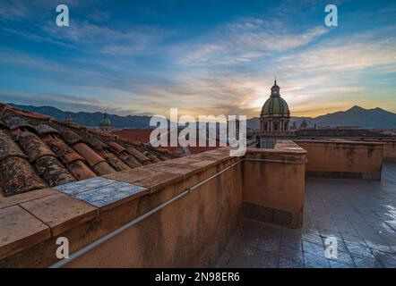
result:
M 327 259 L 330 236 L 338 257 Z M 306 181 L 302 229 L 244 219 L 218 266 L 396 267 L 396 164 L 382 181 Z

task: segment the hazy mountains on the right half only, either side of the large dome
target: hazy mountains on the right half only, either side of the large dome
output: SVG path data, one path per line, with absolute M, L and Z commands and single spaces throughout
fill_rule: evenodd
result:
M 297 127 L 300 126 L 303 120 L 306 120 L 308 128 L 312 128 L 316 125 L 317 127 L 354 126 L 367 129 L 396 129 L 396 114 L 379 107 L 365 109 L 355 105 L 347 111 L 338 111 L 314 118 L 295 116 L 290 118 L 291 124 L 296 122 Z M 247 126 L 252 129 L 260 129 L 259 118 L 254 117 L 249 119 L 247 121 Z

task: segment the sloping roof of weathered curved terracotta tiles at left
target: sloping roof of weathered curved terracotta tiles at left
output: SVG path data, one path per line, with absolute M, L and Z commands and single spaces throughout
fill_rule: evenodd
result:
M 133 139 L 0 103 L 0 196 L 126 172 L 176 157 Z

